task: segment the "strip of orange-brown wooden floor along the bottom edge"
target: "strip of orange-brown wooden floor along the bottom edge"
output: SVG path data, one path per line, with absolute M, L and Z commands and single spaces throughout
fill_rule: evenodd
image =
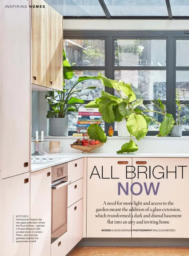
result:
M 76 247 L 69 256 L 189 256 L 181 247 Z

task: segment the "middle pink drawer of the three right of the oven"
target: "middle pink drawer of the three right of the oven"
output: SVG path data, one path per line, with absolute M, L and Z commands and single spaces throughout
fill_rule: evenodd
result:
M 83 198 L 83 178 L 68 185 L 68 207 Z

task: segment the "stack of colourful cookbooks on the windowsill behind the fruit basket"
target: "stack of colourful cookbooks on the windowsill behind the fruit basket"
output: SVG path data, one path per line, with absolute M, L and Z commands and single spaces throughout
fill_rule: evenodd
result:
M 97 124 L 102 119 L 101 113 L 99 112 L 98 108 L 80 107 L 77 117 L 77 132 L 79 133 L 87 132 L 87 128 L 88 126 L 90 126 L 90 124 Z M 101 121 L 99 123 L 99 126 L 101 126 L 104 130 L 104 121 Z

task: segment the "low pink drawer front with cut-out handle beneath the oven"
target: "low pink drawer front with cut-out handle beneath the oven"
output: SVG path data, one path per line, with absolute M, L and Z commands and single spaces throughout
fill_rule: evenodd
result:
M 51 256 L 65 256 L 71 248 L 68 244 L 68 231 L 51 244 Z

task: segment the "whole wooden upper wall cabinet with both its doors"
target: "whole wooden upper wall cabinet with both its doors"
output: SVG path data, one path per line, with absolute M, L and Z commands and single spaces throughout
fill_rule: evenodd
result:
M 42 6 L 42 8 L 32 8 L 32 83 L 61 90 L 62 15 L 43 0 L 32 0 L 32 5 Z

